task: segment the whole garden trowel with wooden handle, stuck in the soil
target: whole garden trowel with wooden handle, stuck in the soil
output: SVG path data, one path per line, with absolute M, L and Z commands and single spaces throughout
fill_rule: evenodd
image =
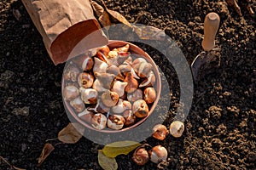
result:
M 201 42 L 201 46 L 204 49 L 200 54 L 198 54 L 191 64 L 191 71 L 196 81 L 198 71 L 200 71 L 201 66 L 205 65 L 207 61 L 212 59 L 212 48 L 215 46 L 215 36 L 218 31 L 219 26 L 219 16 L 216 13 L 207 14 L 204 21 L 204 39 Z

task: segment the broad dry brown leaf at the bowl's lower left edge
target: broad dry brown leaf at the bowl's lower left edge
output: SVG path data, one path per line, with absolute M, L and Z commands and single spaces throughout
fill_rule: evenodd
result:
M 58 134 L 58 139 L 66 144 L 75 144 L 82 138 L 84 127 L 79 123 L 69 123 Z

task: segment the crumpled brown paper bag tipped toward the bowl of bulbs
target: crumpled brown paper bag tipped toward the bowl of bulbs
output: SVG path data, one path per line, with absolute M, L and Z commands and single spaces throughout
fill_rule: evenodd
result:
M 54 64 L 63 63 L 82 41 L 84 50 L 108 43 L 94 17 L 89 0 L 22 0 L 34 25 L 43 37 Z M 78 54 L 78 53 L 73 53 Z

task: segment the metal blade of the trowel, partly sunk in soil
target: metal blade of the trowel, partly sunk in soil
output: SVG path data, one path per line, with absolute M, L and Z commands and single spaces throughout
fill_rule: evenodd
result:
M 198 54 L 195 59 L 193 60 L 191 64 L 191 71 L 194 78 L 194 81 L 196 82 L 198 71 L 200 71 L 201 66 L 205 65 L 207 63 L 207 54 L 206 52 L 201 52 L 201 54 Z

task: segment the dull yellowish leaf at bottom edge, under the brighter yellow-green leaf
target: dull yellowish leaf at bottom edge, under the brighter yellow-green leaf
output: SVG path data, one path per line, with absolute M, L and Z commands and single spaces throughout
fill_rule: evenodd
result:
M 98 162 L 104 170 L 116 170 L 118 168 L 115 158 L 105 156 L 102 150 L 98 150 Z

